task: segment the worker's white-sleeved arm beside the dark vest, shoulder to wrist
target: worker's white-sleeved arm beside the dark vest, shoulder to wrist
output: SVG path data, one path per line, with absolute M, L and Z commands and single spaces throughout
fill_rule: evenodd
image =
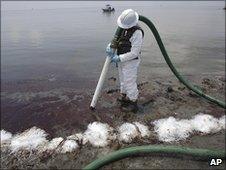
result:
M 121 62 L 129 61 L 138 57 L 143 43 L 142 31 L 136 30 L 130 38 L 130 42 L 132 46 L 130 52 L 119 55 Z

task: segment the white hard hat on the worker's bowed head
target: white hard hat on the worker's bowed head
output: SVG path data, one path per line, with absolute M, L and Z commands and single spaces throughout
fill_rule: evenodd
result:
M 118 17 L 117 24 L 123 29 L 132 28 L 137 25 L 139 15 L 132 9 L 127 9 Z

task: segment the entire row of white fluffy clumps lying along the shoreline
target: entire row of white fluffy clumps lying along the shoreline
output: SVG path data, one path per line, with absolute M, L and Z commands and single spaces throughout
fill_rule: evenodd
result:
M 72 134 L 66 140 L 56 137 L 50 141 L 46 138 L 48 134 L 37 127 L 32 127 L 16 135 L 2 129 L 1 143 L 7 141 L 8 149 L 12 153 L 21 150 L 37 150 L 38 153 L 45 151 L 74 152 L 87 143 L 93 147 L 106 147 L 117 142 L 128 144 L 139 138 L 149 139 L 151 133 L 157 134 L 159 141 L 172 143 L 185 140 L 195 132 L 205 135 L 225 129 L 225 115 L 215 118 L 212 115 L 199 113 L 191 119 L 177 119 L 170 116 L 152 121 L 152 125 L 154 125 L 153 131 L 140 122 L 125 122 L 116 128 L 107 123 L 93 122 L 88 125 L 84 133 Z M 5 145 L 1 145 L 1 149 L 3 147 Z

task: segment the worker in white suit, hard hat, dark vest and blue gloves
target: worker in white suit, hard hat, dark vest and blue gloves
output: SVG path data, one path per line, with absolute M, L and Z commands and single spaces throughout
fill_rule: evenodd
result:
M 118 63 L 121 107 L 124 111 L 136 112 L 138 89 L 137 71 L 140 64 L 141 46 L 144 32 L 138 26 L 139 15 L 132 9 L 127 9 L 118 17 L 117 24 L 123 28 L 118 40 L 117 52 L 113 53 L 110 44 L 106 52 L 111 61 Z

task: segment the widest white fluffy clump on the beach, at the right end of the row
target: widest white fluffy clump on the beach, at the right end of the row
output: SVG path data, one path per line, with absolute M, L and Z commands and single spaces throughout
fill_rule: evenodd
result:
M 202 134 L 216 133 L 225 129 L 225 116 L 220 119 L 212 115 L 199 113 L 192 119 L 176 119 L 174 117 L 159 119 L 153 122 L 154 131 L 163 142 L 185 140 L 194 132 Z M 224 119 L 224 120 L 223 120 Z

